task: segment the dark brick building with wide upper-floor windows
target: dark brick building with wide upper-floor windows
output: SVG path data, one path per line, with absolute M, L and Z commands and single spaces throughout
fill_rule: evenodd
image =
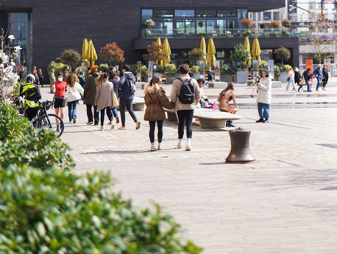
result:
M 228 52 L 234 45 L 243 43 L 243 37 L 236 37 L 235 29 L 243 28 L 240 21 L 247 18 L 248 11 L 263 11 L 284 7 L 282 0 L 256 1 L 135 1 L 126 3 L 113 0 L 100 1 L 41 1 L 10 0 L 0 1 L 0 25 L 5 30 L 10 20 L 10 30 L 21 39 L 23 52 L 21 62 L 26 60 L 28 70 L 33 65 L 43 70 L 48 77 L 47 65 L 59 57 L 64 49 L 82 52 L 84 38 L 92 39 L 97 54 L 107 43 L 117 42 L 124 50 L 125 62 L 144 61 L 142 55 L 147 45 L 168 38 L 172 61 L 188 61 L 187 52 L 200 47 L 200 31 L 214 38 L 217 60 L 228 60 Z M 20 15 L 19 15 L 20 14 Z M 21 18 L 18 18 L 21 17 Z M 26 18 L 26 20 L 25 20 Z M 146 19 L 153 19 L 155 26 L 146 34 L 142 26 Z M 204 20 L 200 28 L 198 21 Z M 26 24 L 26 30 L 23 29 Z M 231 31 L 231 32 L 228 32 Z M 229 34 L 229 36 L 228 36 Z M 242 36 L 242 35 L 241 35 Z M 150 38 L 149 38 L 150 37 Z M 251 45 L 253 38 L 251 38 Z M 298 38 L 259 38 L 261 49 L 287 47 L 292 58 L 292 66 L 298 66 Z M 14 44 L 13 44 L 14 45 Z M 98 57 L 97 64 L 102 61 Z

